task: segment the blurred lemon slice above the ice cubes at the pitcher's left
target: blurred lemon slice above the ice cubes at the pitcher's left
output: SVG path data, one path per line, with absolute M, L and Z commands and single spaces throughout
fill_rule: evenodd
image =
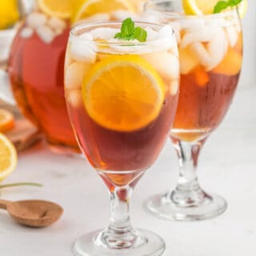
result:
M 38 0 L 39 8 L 50 16 L 58 18 L 70 18 L 73 13 L 72 0 Z

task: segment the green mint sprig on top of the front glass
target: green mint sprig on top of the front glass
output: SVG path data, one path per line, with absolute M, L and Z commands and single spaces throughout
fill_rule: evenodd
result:
M 146 42 L 147 33 L 141 27 L 135 27 L 131 18 L 126 18 L 122 22 L 121 32 L 115 34 L 114 38 L 126 41 L 137 39 L 138 42 Z

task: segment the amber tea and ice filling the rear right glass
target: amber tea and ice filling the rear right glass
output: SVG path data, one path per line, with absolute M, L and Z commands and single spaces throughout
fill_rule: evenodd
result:
M 171 23 L 178 34 L 181 92 L 171 135 L 190 142 L 205 138 L 229 109 L 242 66 L 242 32 L 231 18 L 178 22 Z

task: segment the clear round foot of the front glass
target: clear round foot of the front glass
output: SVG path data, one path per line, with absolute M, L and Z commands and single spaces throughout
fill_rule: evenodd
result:
M 162 255 L 166 249 L 165 242 L 157 234 L 147 230 L 138 230 L 144 238 L 138 246 L 112 249 L 102 242 L 98 242 L 98 234 L 101 231 L 94 231 L 85 234 L 74 243 L 73 252 L 76 256 L 158 256 Z

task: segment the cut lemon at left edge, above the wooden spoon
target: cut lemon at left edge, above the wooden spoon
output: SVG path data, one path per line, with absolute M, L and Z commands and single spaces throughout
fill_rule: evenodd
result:
M 14 171 L 17 165 L 17 152 L 5 135 L 0 134 L 0 180 Z

